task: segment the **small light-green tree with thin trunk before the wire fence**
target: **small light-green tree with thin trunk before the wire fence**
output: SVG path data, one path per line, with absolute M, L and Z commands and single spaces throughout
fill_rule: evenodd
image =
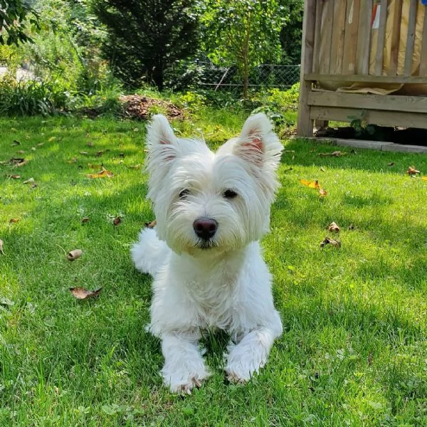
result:
M 250 68 L 280 60 L 280 31 L 286 18 L 278 0 L 206 1 L 205 51 L 217 65 L 236 64 L 243 97 L 248 97 Z

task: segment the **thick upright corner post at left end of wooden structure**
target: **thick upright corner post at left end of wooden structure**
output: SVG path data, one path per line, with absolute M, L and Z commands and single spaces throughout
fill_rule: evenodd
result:
M 320 0 L 317 0 L 320 1 Z M 302 52 L 300 75 L 300 102 L 298 107 L 297 135 L 312 137 L 313 120 L 310 119 L 308 94 L 312 83 L 305 80 L 305 74 L 312 73 L 313 49 L 315 46 L 316 0 L 304 0 L 304 21 L 302 23 Z

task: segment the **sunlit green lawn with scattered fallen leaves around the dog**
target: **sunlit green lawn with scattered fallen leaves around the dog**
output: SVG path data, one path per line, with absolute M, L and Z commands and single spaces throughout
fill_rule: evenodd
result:
M 211 112 L 175 126 L 217 145 L 243 120 Z M 405 174 L 427 176 L 425 155 L 323 157 L 337 147 L 284 142 L 263 247 L 285 332 L 247 386 L 224 384 L 226 339 L 210 337 L 214 375 L 183 398 L 162 386 L 159 341 L 144 332 L 151 280 L 129 254 L 152 219 L 144 125 L 0 129 L 0 160 L 28 159 L 0 165 L 0 426 L 427 426 L 427 181 Z M 101 164 L 114 177 L 88 178 Z M 320 248 L 325 236 L 341 248 Z M 71 287 L 103 291 L 78 301 Z

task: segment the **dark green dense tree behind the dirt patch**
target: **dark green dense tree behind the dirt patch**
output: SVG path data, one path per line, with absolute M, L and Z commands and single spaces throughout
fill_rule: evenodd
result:
M 196 51 L 197 6 L 196 0 L 93 0 L 116 75 L 130 86 L 147 78 L 162 90 L 164 71 Z

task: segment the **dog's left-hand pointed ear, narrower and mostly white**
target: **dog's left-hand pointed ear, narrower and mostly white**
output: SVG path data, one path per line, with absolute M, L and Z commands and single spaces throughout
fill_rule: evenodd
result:
M 147 126 L 147 149 L 149 158 L 157 157 L 168 162 L 176 157 L 176 136 L 164 115 L 157 114 Z

